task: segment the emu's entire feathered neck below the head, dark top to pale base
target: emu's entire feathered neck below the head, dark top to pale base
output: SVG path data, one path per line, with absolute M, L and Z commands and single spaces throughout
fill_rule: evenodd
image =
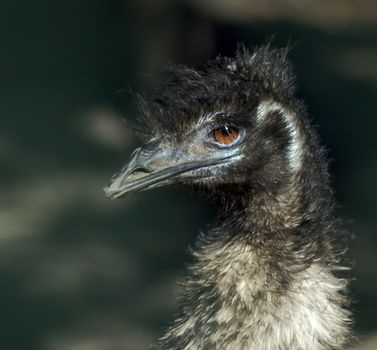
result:
M 303 213 L 292 194 L 224 202 L 218 226 L 199 238 L 181 316 L 160 349 L 343 348 L 347 281 L 334 275 L 330 240 L 312 232 L 327 230 L 319 202 Z

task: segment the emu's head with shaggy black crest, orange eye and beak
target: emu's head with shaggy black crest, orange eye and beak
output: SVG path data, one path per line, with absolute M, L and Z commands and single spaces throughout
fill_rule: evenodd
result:
M 302 107 L 287 50 L 268 46 L 197 69 L 172 66 L 140 102 L 146 144 L 105 188 L 110 198 L 174 183 L 214 193 L 273 190 L 302 167 Z

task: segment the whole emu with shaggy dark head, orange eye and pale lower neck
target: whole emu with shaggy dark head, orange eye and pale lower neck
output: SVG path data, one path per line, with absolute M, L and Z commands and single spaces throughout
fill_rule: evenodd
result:
M 110 198 L 182 183 L 218 205 L 162 350 L 335 350 L 351 339 L 345 244 L 326 151 L 295 97 L 287 49 L 169 66 L 140 99 L 147 142 Z

